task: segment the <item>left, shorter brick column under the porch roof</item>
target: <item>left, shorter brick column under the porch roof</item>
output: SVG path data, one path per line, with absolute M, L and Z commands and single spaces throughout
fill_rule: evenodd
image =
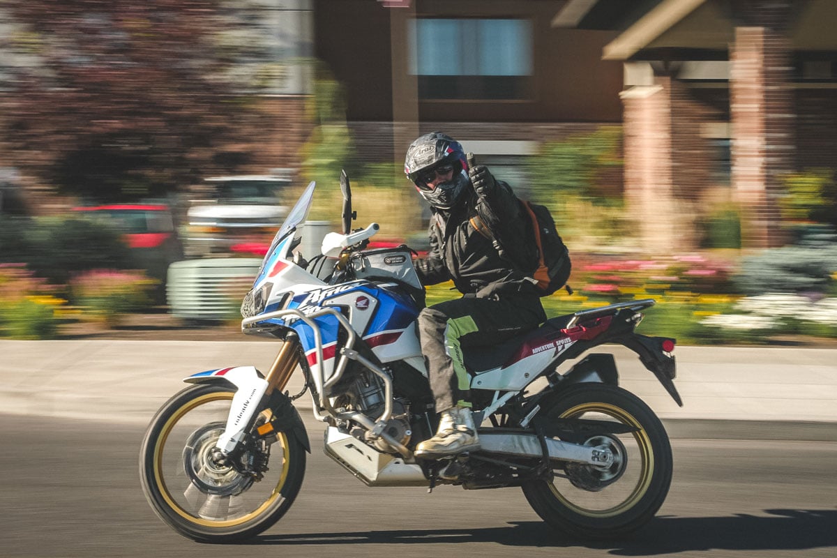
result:
M 625 204 L 639 228 L 640 248 L 670 251 L 677 219 L 671 175 L 671 78 L 624 90 Z

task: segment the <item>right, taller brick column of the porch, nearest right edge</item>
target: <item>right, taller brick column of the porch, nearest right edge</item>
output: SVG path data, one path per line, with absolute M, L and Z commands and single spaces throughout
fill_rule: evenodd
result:
M 732 187 L 745 215 L 742 242 L 779 246 L 778 197 L 794 151 L 788 38 L 766 26 L 739 27 L 731 59 Z

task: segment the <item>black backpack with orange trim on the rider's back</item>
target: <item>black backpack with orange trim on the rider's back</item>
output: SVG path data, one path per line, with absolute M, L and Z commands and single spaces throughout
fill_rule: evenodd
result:
M 494 244 L 502 258 L 516 263 L 524 273 L 529 274 L 541 296 L 548 296 L 567 285 L 572 268 L 569 250 L 558 234 L 547 207 L 522 200 L 521 205 L 531 221 L 531 236 L 527 235 L 527 238 L 503 238 L 501 241 L 479 217 L 471 218 L 470 223 Z M 522 254 L 524 261 L 519 255 L 512 259 L 507 255 L 509 252 Z M 567 292 L 573 292 L 569 285 Z

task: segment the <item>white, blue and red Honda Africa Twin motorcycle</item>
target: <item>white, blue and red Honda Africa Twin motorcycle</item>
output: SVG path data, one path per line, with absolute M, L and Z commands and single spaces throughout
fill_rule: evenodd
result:
M 151 508 L 193 540 L 233 542 L 270 528 L 300 491 L 311 444 L 293 402 L 311 393 L 326 423 L 326 455 L 368 486 L 521 487 L 548 525 L 584 537 L 636 530 L 660 509 L 671 482 L 660 419 L 619 387 L 603 343 L 628 347 L 682 405 L 675 340 L 635 333 L 653 299 L 547 320 L 499 346 L 465 352 L 481 448 L 419 458 L 434 412 L 416 317 L 424 289 L 413 253 L 367 248 L 372 223 L 352 230 L 351 187 L 341 174 L 342 233 L 307 262 L 297 249 L 315 190 L 308 185 L 276 233 L 241 306 L 245 334 L 281 340 L 270 370 L 202 371 L 152 418 L 140 474 Z M 284 392 L 300 370 L 300 393 Z

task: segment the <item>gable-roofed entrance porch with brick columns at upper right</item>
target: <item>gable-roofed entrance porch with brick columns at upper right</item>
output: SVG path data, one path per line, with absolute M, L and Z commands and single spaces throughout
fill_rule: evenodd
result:
M 559 23 L 621 30 L 603 59 L 624 62 L 625 192 L 645 236 L 694 243 L 683 223 L 733 202 L 747 246 L 783 243 L 783 176 L 837 168 L 837 3 L 626 4 L 574 0 Z

